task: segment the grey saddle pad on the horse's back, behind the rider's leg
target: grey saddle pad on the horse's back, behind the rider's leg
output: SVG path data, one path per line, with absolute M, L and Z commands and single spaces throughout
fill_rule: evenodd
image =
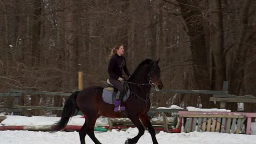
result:
M 102 98 L 108 104 L 115 104 L 116 96 L 113 96 L 113 92 L 114 91 L 107 90 L 107 88 L 103 89 Z M 129 95 L 130 95 L 130 90 L 128 89 L 127 93 L 123 96 L 123 102 L 125 102 L 129 98 Z

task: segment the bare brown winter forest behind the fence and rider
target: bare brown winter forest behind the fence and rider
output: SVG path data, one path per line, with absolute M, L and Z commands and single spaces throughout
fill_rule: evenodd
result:
M 0 0 L 0 92 L 72 92 L 106 86 L 108 55 L 124 45 L 132 73 L 160 58 L 165 90 L 222 90 L 256 96 L 256 0 Z M 152 106 L 219 108 L 207 94 L 158 93 Z M 0 98 L 0 108 L 12 99 Z M 21 105 L 63 105 L 26 95 Z M 237 110 L 229 102 L 227 109 Z M 256 112 L 256 104 L 244 103 Z

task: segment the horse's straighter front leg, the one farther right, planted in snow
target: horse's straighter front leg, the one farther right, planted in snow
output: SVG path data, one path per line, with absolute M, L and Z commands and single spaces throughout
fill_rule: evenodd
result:
M 157 140 L 156 140 L 156 133 L 155 133 L 155 129 L 153 128 L 149 116 L 147 114 L 140 116 L 141 121 L 143 122 L 144 126 L 147 127 L 147 129 L 149 130 L 149 133 L 151 135 L 153 144 L 158 144 Z

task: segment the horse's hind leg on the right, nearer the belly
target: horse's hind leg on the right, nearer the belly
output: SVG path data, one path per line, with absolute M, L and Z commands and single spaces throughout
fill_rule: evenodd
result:
M 95 123 L 97 120 L 97 116 L 98 116 L 97 111 L 95 111 L 95 112 L 90 111 L 90 114 L 86 115 L 86 122 L 87 122 L 86 131 L 87 131 L 87 134 L 89 135 L 89 137 L 92 139 L 92 141 L 95 144 L 101 144 L 100 141 L 98 141 L 98 139 L 94 135 L 94 126 L 95 126 Z

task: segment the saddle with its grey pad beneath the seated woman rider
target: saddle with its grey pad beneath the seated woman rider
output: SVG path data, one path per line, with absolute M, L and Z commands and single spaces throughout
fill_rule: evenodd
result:
M 127 83 L 123 83 L 124 86 L 124 95 L 122 98 L 122 101 L 125 102 L 130 95 L 130 90 Z M 116 101 L 116 94 L 118 92 L 118 89 L 116 89 L 110 82 L 109 79 L 107 79 L 107 86 L 103 89 L 102 92 L 102 98 L 103 100 L 108 104 L 114 104 Z

